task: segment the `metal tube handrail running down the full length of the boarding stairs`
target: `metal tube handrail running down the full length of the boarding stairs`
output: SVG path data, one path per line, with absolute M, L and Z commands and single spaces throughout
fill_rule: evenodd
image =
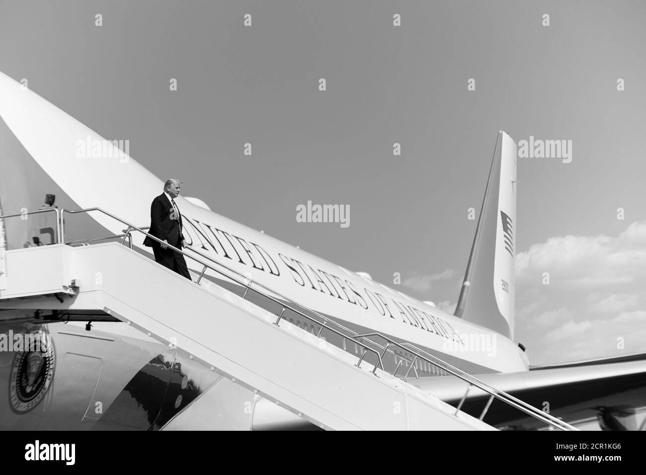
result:
M 550 425 L 552 427 L 556 427 L 556 428 L 559 428 L 561 430 L 578 430 L 577 428 L 572 427 L 571 425 L 557 419 L 556 417 L 550 416 L 549 414 L 545 414 L 544 412 L 538 410 L 534 406 L 528 405 L 527 403 L 521 401 L 520 399 L 517 399 L 516 397 L 511 396 L 510 394 L 507 394 L 507 393 L 505 393 L 503 391 L 497 390 L 496 388 L 494 388 L 494 386 L 490 386 L 487 383 L 485 383 L 484 381 L 481 381 L 480 379 L 477 379 L 473 375 L 470 375 L 470 374 L 464 372 L 463 370 L 460 370 L 459 368 L 455 368 L 455 366 L 453 366 L 452 364 L 446 363 L 442 359 L 439 359 L 438 357 L 436 357 L 434 355 L 428 354 L 428 352 L 424 352 L 424 350 L 421 350 L 420 348 L 417 348 L 417 346 L 414 346 L 411 343 L 408 343 L 408 342 L 399 343 L 397 341 L 394 341 L 390 337 L 386 337 L 385 335 L 382 335 L 381 333 L 378 333 L 378 332 L 365 333 L 365 334 L 362 334 L 362 335 L 360 335 L 359 333 L 353 332 L 352 330 L 349 330 L 348 328 L 340 325 L 339 323 L 335 322 L 334 320 L 328 319 L 328 317 L 325 317 L 324 315 L 321 315 L 317 311 L 311 310 L 311 309 L 307 308 L 306 306 L 303 306 L 302 304 L 299 304 L 298 302 L 295 302 L 295 301 L 289 299 L 289 297 L 286 297 L 286 296 L 284 296 L 284 295 L 282 295 L 282 294 L 280 294 L 280 293 L 278 293 L 278 292 L 276 292 L 274 290 L 271 290 L 271 289 L 267 288 L 266 286 L 264 286 L 264 284 L 261 284 L 260 282 L 256 282 L 255 280 L 244 276 L 242 273 L 236 271 L 235 269 L 229 268 L 225 264 L 222 264 L 222 263 L 220 263 L 220 262 L 218 262 L 216 260 L 213 260 L 209 256 L 203 255 L 200 251 L 197 251 L 196 249 L 191 249 L 191 251 L 193 251 L 194 253 L 200 255 L 201 257 L 204 257 L 205 259 L 207 259 L 207 260 L 209 260 L 211 262 L 214 262 L 214 264 L 217 264 L 218 266 L 220 266 L 222 268 L 225 268 L 225 269 L 233 272 L 236 275 L 239 275 L 240 277 L 244 277 L 244 280 L 238 280 L 235 277 L 231 277 L 231 275 L 227 275 L 227 274 L 223 273 L 222 271 L 214 268 L 211 264 L 207 264 L 206 262 L 203 262 L 203 260 L 198 259 L 198 258 L 194 257 L 193 255 L 190 255 L 190 254 L 186 253 L 185 251 L 182 251 L 182 249 L 175 248 L 174 246 L 171 246 L 170 244 L 167 244 L 166 242 L 163 242 L 161 239 L 159 239 L 157 237 L 154 237 L 149 233 L 146 233 L 140 227 L 134 226 L 133 224 L 130 224 L 129 222 L 127 222 L 125 220 L 122 220 L 118 216 L 112 215 L 112 213 L 109 213 L 108 211 L 105 211 L 105 210 L 103 210 L 103 209 L 101 209 L 99 207 L 93 207 L 93 208 L 87 208 L 87 209 L 76 209 L 76 210 L 61 209 L 60 213 L 58 213 L 58 209 L 54 208 L 54 209 L 44 209 L 44 210 L 32 211 L 32 212 L 28 212 L 27 214 L 36 214 L 36 213 L 39 213 L 39 212 L 43 213 L 43 212 L 47 212 L 47 211 L 56 211 L 56 215 L 57 215 L 57 218 L 58 218 L 57 219 L 57 235 L 59 236 L 59 242 L 61 244 L 65 244 L 65 221 L 64 221 L 64 216 L 65 216 L 66 212 L 70 213 L 70 214 L 76 214 L 76 213 L 88 213 L 90 211 L 99 211 L 100 213 L 103 213 L 103 214 L 105 214 L 107 216 L 110 216 L 114 220 L 117 220 L 117 221 L 121 222 L 122 224 L 125 224 L 125 225 L 128 226 L 128 229 L 127 229 L 127 231 L 125 231 L 125 233 L 123 235 L 123 239 L 121 240 L 121 244 L 123 244 L 123 242 L 125 242 L 125 239 L 127 237 L 130 237 L 130 233 L 132 231 L 138 231 L 138 232 L 142 233 L 143 235 L 145 235 L 145 236 L 147 236 L 147 237 L 149 237 L 149 238 L 151 238 L 153 240 L 156 240 L 160 244 L 166 244 L 167 247 L 171 248 L 173 251 L 176 251 L 176 252 L 184 255 L 185 257 L 189 257 L 189 259 L 193 259 L 194 261 L 198 262 L 199 264 L 202 264 L 202 266 L 204 266 L 204 267 L 202 269 L 202 272 L 200 273 L 200 277 L 198 277 L 198 281 L 196 282 L 197 284 L 199 284 L 199 282 L 202 279 L 206 269 L 208 268 L 208 269 L 211 269 L 211 270 L 215 271 L 216 273 L 224 275 L 225 277 L 227 277 L 227 279 L 234 280 L 234 282 L 238 282 L 238 284 L 241 284 L 242 286 L 245 286 L 246 290 L 245 290 L 244 295 L 242 296 L 243 299 L 247 295 L 247 291 L 249 291 L 249 289 L 251 288 L 252 283 L 256 284 L 256 286 L 258 286 L 260 288 L 264 288 L 265 290 L 269 291 L 273 295 L 278 295 L 279 297 L 284 298 L 286 301 L 291 302 L 292 304 L 294 304 L 296 306 L 299 306 L 300 308 L 303 308 L 304 310 L 307 310 L 307 311 L 313 313 L 314 315 L 317 315 L 318 317 L 323 319 L 323 322 L 319 322 L 316 319 L 314 319 L 313 317 L 311 317 L 310 315 L 307 315 L 306 313 L 303 313 L 302 311 L 299 311 L 296 308 L 293 308 L 292 306 L 286 304 L 286 302 L 282 302 L 282 301 L 276 299 L 276 297 L 273 297 L 273 295 L 267 295 L 267 293 L 262 293 L 262 292 L 258 291 L 257 289 L 254 289 L 255 291 L 258 291 L 258 293 L 261 293 L 261 295 L 263 295 L 267 299 L 270 299 L 271 301 L 276 302 L 277 304 L 282 306 L 282 311 L 280 312 L 280 315 L 278 315 L 278 319 L 274 322 L 274 324 L 276 326 L 278 326 L 278 323 L 280 322 L 280 319 L 282 319 L 282 315 L 285 312 L 285 310 L 289 309 L 291 311 L 294 311 L 298 315 L 301 315 L 302 317 L 308 319 L 309 321 L 313 321 L 313 322 L 316 322 L 317 324 L 319 324 L 321 326 L 321 328 L 320 328 L 320 330 L 318 332 L 318 336 L 320 336 L 320 333 L 322 332 L 323 328 L 326 328 L 326 330 L 329 330 L 330 332 L 333 332 L 333 333 L 335 333 L 335 334 L 337 334 L 337 335 L 339 335 L 339 336 L 341 336 L 343 338 L 349 337 L 350 339 L 352 339 L 356 343 L 358 343 L 362 348 L 364 348 L 364 352 L 362 353 L 362 355 L 361 355 L 361 357 L 359 359 L 359 362 L 357 363 L 356 366 L 360 366 L 360 364 L 362 363 L 366 353 L 373 352 L 375 355 L 377 355 L 377 363 L 375 363 L 375 366 L 374 366 L 373 370 L 371 371 L 375 375 L 376 375 L 378 367 L 380 367 L 382 370 L 384 370 L 384 364 L 383 364 L 383 361 L 382 361 L 382 357 L 383 357 L 383 355 L 386 354 L 387 351 L 389 351 L 389 348 L 390 348 L 391 345 L 398 346 L 399 348 L 402 348 L 402 350 L 412 352 L 412 354 L 415 355 L 415 358 L 413 358 L 412 361 L 411 361 L 411 360 L 408 360 L 407 358 L 402 357 L 402 355 L 399 355 L 399 354 L 396 354 L 395 352 L 390 351 L 391 354 L 396 355 L 400 359 L 407 359 L 411 363 L 411 366 L 408 369 L 408 372 L 406 372 L 406 375 L 404 375 L 404 378 L 403 378 L 404 381 L 406 381 L 406 378 L 408 377 L 408 374 L 410 374 L 410 370 L 414 369 L 415 373 L 417 373 L 417 368 L 415 368 L 414 364 L 415 364 L 415 361 L 417 360 L 417 358 L 419 358 L 419 359 L 422 359 L 422 360 L 426 361 L 429 364 L 434 364 L 435 366 L 439 366 L 439 367 L 443 368 L 444 370 L 446 370 L 447 372 L 450 372 L 451 374 L 459 377 L 460 379 L 463 379 L 463 381 L 466 381 L 466 383 L 469 383 L 469 386 L 468 386 L 468 388 L 466 390 L 466 393 L 464 394 L 463 399 L 460 401 L 459 405 L 457 406 L 457 410 L 455 411 L 456 416 L 457 416 L 457 413 L 459 412 L 461 406 L 463 405 L 464 400 L 466 399 L 466 396 L 467 396 L 468 392 L 470 391 L 470 389 L 472 388 L 472 386 L 477 386 L 479 389 L 481 389 L 481 390 L 483 390 L 483 391 L 485 391 L 485 392 L 487 392 L 488 394 L 491 395 L 491 397 L 489 398 L 489 401 L 488 401 L 488 403 L 487 403 L 487 405 L 485 407 L 485 410 L 483 411 L 483 413 L 482 413 L 482 415 L 480 417 L 480 420 L 483 419 L 483 417 L 485 416 L 486 411 L 488 410 L 490 404 L 492 403 L 493 398 L 496 397 L 497 399 L 503 401 L 504 403 L 506 403 L 506 404 L 508 404 L 508 405 L 510 405 L 512 407 L 516 407 L 517 409 L 525 412 L 526 414 L 529 414 L 532 417 L 535 417 L 536 419 L 539 419 L 540 421 L 543 421 L 544 423 L 547 423 L 548 425 Z M 0 216 L 0 218 L 12 217 L 12 216 L 21 216 L 23 214 L 24 213 L 16 213 L 14 215 Z M 119 237 L 121 237 L 121 235 Z M 112 237 L 112 238 L 114 238 L 114 237 Z M 131 244 L 132 244 L 132 242 L 130 241 L 130 245 Z M 345 335 L 344 333 L 341 333 L 338 330 L 335 330 L 334 328 L 331 328 L 330 326 L 328 326 L 328 324 L 327 324 L 328 322 L 330 322 L 332 324 L 335 324 L 337 326 L 340 326 L 341 328 L 346 330 L 346 332 L 351 333 L 351 335 Z M 380 337 L 380 338 L 384 339 L 384 341 L 387 342 L 386 346 L 380 346 L 379 343 L 370 340 L 369 337 Z M 372 344 L 375 344 L 380 349 L 383 349 L 383 353 L 379 354 L 379 352 L 377 352 L 377 350 L 374 350 L 373 348 L 370 348 L 370 346 L 367 346 L 366 344 L 362 343 L 362 341 L 361 341 L 362 339 L 364 339 L 364 340 L 366 340 L 366 341 L 368 341 L 368 342 L 370 342 Z M 397 365 L 397 369 L 399 369 L 399 366 L 401 366 L 401 362 Z M 397 369 L 395 369 L 395 374 L 397 373 Z

